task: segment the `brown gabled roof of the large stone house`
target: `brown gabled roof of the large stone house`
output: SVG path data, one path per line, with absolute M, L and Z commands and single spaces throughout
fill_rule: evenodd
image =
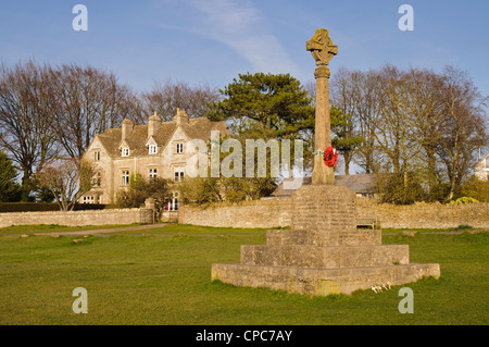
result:
M 206 117 L 191 119 L 188 123 L 181 123 L 179 126 L 190 139 L 200 138 L 208 140 L 211 137 L 211 131 L 220 131 L 223 134 L 229 133 L 225 122 L 212 122 Z M 162 122 L 158 132 L 152 136 L 154 142 L 158 146 L 166 147 L 177 127 L 178 125 L 175 122 Z M 102 135 L 97 135 L 97 137 L 106 149 L 109 156 L 112 158 L 121 157 L 121 128 L 106 129 Z M 133 132 L 125 140 L 130 149 L 129 157 L 126 158 L 148 156 L 148 125 L 135 125 Z

